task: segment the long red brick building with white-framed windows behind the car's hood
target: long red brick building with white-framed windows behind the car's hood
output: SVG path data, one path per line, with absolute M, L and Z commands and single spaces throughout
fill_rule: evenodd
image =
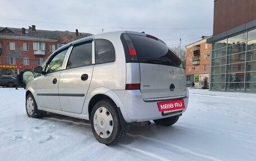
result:
M 33 68 L 42 65 L 61 45 L 90 35 L 78 30 L 36 30 L 35 25 L 29 29 L 0 27 L 0 75 L 17 76 L 20 71 L 30 71 L 31 75 Z

